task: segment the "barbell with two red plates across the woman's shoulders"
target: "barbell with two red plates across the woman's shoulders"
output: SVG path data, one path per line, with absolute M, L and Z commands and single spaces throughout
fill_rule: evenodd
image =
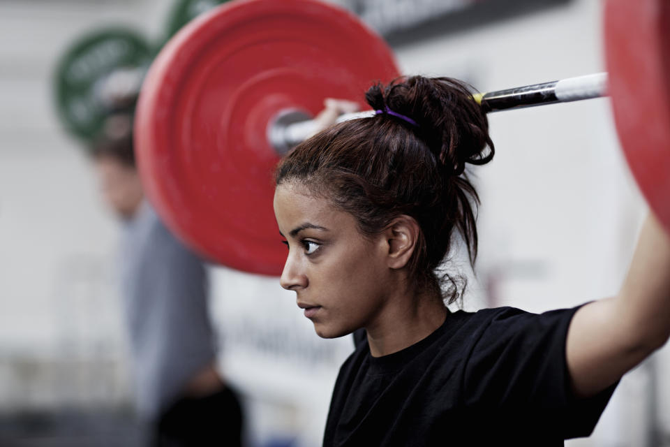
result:
M 473 96 L 484 110 L 607 93 L 627 161 L 670 228 L 670 6 L 609 0 L 609 75 Z M 165 223 L 212 261 L 278 274 L 271 173 L 314 131 L 324 98 L 362 105 L 373 82 L 399 77 L 386 43 L 347 11 L 315 0 L 232 1 L 201 15 L 149 68 L 135 115 L 147 196 Z M 343 119 L 366 116 L 370 112 Z

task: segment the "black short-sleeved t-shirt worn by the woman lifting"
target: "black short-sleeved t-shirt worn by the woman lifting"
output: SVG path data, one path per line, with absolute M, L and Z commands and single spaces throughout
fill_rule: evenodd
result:
M 422 341 L 338 375 L 324 446 L 563 446 L 588 436 L 616 384 L 577 400 L 565 338 L 575 309 L 454 312 Z

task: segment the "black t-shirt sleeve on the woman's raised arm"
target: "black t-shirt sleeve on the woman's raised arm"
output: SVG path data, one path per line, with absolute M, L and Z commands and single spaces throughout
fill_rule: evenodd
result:
M 473 333 L 463 374 L 463 400 L 477 413 L 504 415 L 500 427 L 533 427 L 568 439 L 588 436 L 616 383 L 577 399 L 567 370 L 565 340 L 579 307 L 530 314 L 491 309 Z

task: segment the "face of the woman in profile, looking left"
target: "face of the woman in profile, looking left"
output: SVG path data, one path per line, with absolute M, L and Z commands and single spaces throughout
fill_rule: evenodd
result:
M 295 291 L 316 333 L 341 337 L 374 325 L 391 283 L 385 237 L 364 237 L 351 214 L 297 184 L 277 186 L 274 213 L 288 245 L 281 286 Z

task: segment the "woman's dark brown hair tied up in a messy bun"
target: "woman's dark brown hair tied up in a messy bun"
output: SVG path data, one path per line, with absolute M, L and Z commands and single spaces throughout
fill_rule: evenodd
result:
M 479 197 L 466 163 L 493 158 L 485 113 L 468 85 L 451 78 L 412 76 L 366 93 L 374 110 L 388 108 L 417 123 L 382 113 L 337 124 L 295 147 L 279 163 L 276 184 L 299 182 L 352 214 L 364 235 L 378 234 L 401 214 L 421 228 L 408 268 L 419 288 L 454 302 L 465 288 L 459 275 L 438 268 L 452 247 L 454 228 L 477 256 Z

